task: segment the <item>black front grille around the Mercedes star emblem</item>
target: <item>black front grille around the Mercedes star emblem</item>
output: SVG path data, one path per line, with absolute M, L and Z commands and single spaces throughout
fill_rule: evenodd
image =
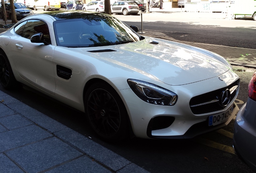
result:
M 225 106 L 221 105 L 222 92 L 229 89 L 230 102 L 232 102 L 238 92 L 238 86 L 239 80 L 233 82 L 227 87 L 193 97 L 189 103 L 192 113 L 204 114 L 225 109 Z

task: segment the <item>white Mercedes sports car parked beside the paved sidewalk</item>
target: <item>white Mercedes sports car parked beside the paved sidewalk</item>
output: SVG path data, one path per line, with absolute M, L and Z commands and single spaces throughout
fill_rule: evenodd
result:
M 239 77 L 225 58 L 132 28 L 85 11 L 26 17 L 0 34 L 0 83 L 85 112 L 108 141 L 192 138 L 231 121 Z

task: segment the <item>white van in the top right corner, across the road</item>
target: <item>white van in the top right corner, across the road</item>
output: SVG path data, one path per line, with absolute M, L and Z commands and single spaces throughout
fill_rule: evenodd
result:
M 256 20 L 256 0 L 235 0 L 233 7 L 233 15 L 252 17 Z

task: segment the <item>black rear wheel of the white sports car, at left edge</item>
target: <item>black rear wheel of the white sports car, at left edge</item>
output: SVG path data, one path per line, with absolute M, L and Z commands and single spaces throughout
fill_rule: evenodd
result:
M 0 83 L 5 89 L 13 89 L 17 84 L 10 62 L 3 51 L 0 51 Z

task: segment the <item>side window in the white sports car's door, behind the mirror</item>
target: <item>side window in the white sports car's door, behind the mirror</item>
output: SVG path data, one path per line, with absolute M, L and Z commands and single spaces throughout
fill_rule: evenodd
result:
M 18 26 L 15 27 L 14 31 L 16 34 L 30 39 L 31 36 L 37 34 L 39 32 L 43 33 L 44 41 L 51 44 L 50 34 L 47 27 L 47 24 L 41 20 L 27 20 L 22 22 Z

